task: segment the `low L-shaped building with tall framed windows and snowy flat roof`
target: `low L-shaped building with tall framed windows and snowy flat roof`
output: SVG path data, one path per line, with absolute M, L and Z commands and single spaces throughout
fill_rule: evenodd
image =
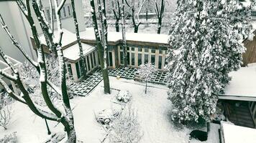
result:
M 99 67 L 99 57 L 93 29 L 80 32 L 83 54 L 85 56 L 86 73 L 90 74 Z M 44 36 L 40 36 L 43 46 L 47 47 Z M 32 43 L 33 39 L 32 39 Z M 33 44 L 35 45 L 35 44 Z M 168 35 L 166 34 L 134 34 L 127 33 L 128 66 L 139 67 L 141 64 L 152 63 L 157 69 L 164 70 L 167 54 Z M 46 48 L 47 49 L 47 48 Z M 49 51 L 48 51 L 49 52 Z M 122 33 L 108 32 L 108 66 L 114 69 L 124 64 Z M 68 74 L 75 81 L 82 79 L 81 57 L 76 34 L 63 29 L 63 55 L 66 60 Z

